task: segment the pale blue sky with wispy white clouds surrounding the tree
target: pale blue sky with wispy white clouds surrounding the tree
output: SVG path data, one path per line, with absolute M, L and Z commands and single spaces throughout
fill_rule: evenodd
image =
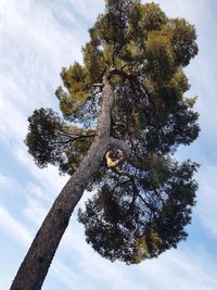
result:
M 76 210 L 43 290 L 217 289 L 217 2 L 155 2 L 168 16 L 194 24 L 199 37 L 200 53 L 186 72 L 191 84 L 188 96 L 199 96 L 202 131 L 191 147 L 177 153 L 201 164 L 189 238 L 178 249 L 139 265 L 112 263 L 86 243 Z M 61 68 L 81 61 L 88 28 L 103 7 L 102 0 L 0 0 L 0 290 L 9 289 L 68 179 L 52 166 L 39 169 L 34 164 L 23 142 L 27 117 L 37 108 L 58 109 L 54 91 Z M 87 198 L 85 193 L 80 205 Z

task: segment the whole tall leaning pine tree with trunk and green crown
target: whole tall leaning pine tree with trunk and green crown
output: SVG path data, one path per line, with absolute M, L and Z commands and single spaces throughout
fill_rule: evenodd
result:
M 11 289 L 40 289 L 84 190 L 87 241 L 127 264 L 158 256 L 187 238 L 197 164 L 174 153 L 199 135 L 183 68 L 197 54 L 194 26 L 155 3 L 106 0 L 89 30 L 82 64 L 63 68 L 51 109 L 28 118 L 38 166 L 72 177 L 42 223 Z

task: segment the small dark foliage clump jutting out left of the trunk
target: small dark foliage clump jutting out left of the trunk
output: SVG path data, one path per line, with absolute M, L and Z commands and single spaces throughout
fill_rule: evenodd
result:
M 51 109 L 36 110 L 28 122 L 25 143 L 36 164 L 44 167 L 50 163 L 59 166 L 61 173 L 73 174 L 87 153 L 94 131 L 68 127 Z

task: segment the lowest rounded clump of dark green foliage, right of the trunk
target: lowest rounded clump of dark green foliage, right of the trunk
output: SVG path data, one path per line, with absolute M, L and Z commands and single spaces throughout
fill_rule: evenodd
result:
M 151 161 L 152 166 L 156 159 Z M 155 169 L 155 167 L 154 167 Z M 102 256 L 127 264 L 155 257 L 187 238 L 184 226 L 189 224 L 191 207 L 195 203 L 196 184 L 191 180 L 196 165 L 166 161 L 164 178 L 158 182 L 138 177 L 145 191 L 138 196 L 130 181 L 117 186 L 104 186 L 86 211 L 79 211 L 85 225 L 87 241 Z M 155 171 L 159 176 L 162 169 Z M 136 196 L 135 196 L 136 194 Z

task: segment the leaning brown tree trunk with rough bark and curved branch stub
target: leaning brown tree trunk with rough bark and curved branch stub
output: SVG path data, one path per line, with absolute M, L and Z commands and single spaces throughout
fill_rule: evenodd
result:
M 103 102 L 98 117 L 95 138 L 77 171 L 55 199 L 18 268 L 11 290 L 41 289 L 71 215 L 91 176 L 98 172 L 105 153 L 115 148 L 122 150 L 124 157 L 128 157 L 130 153 L 128 146 L 110 136 L 113 101 L 113 88 L 110 77 L 106 76 L 103 80 Z

